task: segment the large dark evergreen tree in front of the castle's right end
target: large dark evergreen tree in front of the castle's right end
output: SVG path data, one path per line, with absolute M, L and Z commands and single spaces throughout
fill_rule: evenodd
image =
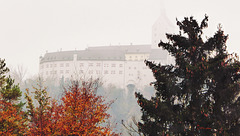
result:
M 175 57 L 175 64 L 145 61 L 156 79 L 150 100 L 136 93 L 144 135 L 239 135 L 240 62 L 226 51 L 228 36 L 219 26 L 213 37 L 202 39 L 208 17 L 177 21 L 180 34 L 166 34 L 159 47 Z M 183 34 L 182 34 L 183 33 Z

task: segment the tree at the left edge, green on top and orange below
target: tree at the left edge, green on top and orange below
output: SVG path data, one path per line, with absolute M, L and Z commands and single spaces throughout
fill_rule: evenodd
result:
M 0 59 L 0 135 L 23 135 L 26 119 L 19 102 L 22 93 L 7 72 L 5 60 Z

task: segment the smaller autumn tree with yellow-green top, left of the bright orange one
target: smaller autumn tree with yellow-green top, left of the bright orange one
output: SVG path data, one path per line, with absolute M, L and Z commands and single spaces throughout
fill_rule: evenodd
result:
M 29 118 L 28 135 L 60 135 L 58 125 L 59 112 L 58 104 L 51 100 L 47 93 L 47 88 L 43 87 L 43 82 L 39 78 L 37 86 L 33 87 L 34 100 L 31 98 L 29 89 L 26 90 L 25 98 L 27 100 L 27 114 Z

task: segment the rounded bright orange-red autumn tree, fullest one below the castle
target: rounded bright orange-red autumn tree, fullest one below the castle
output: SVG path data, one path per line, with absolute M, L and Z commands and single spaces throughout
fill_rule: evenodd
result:
M 107 123 L 110 103 L 96 96 L 94 90 L 73 82 L 62 97 L 61 133 L 64 135 L 114 135 Z

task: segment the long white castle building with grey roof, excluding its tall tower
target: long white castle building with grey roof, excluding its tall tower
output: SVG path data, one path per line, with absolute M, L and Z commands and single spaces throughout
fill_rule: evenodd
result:
M 44 80 L 56 82 L 92 77 L 100 78 L 103 86 L 144 87 L 154 81 L 144 60 L 162 64 L 172 61 L 166 51 L 152 49 L 151 45 L 100 46 L 46 53 L 40 57 L 39 73 Z

